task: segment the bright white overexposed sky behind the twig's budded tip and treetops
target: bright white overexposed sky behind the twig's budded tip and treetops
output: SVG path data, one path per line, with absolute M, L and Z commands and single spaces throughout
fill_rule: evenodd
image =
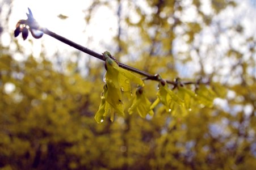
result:
M 190 0 L 186 0 L 186 2 L 189 1 Z M 86 9 L 91 6 L 92 2 L 93 0 L 13 0 L 12 12 L 9 17 L 10 30 L 2 35 L 2 42 L 4 45 L 8 46 L 10 42 L 13 41 L 14 37 L 10 37 L 10 32 L 14 31 L 15 24 L 19 19 L 27 18 L 27 7 L 30 7 L 33 16 L 41 26 L 47 27 L 51 31 L 93 49 L 96 52 L 103 52 L 106 50 L 104 48 L 106 48 L 108 44 L 111 44 L 111 39 L 117 32 L 117 19 L 115 18 L 116 5 L 112 5 L 112 10 L 104 6 L 98 8 L 94 13 L 94 19 L 91 20 L 90 25 L 86 25 Z M 140 3 L 142 0 L 137 2 Z M 204 0 L 204 2 L 206 4 L 204 5 L 204 10 L 207 11 L 209 9 L 207 8 L 207 0 Z M 245 34 L 254 34 L 254 30 L 256 29 L 256 0 L 242 0 L 239 2 L 240 7 L 238 7 L 237 12 L 225 12 L 223 18 L 228 15 L 237 18 L 237 22 L 241 22 L 245 25 Z M 187 20 L 190 20 L 189 17 L 192 16 L 191 12 L 193 12 L 193 10 L 187 11 Z M 58 18 L 60 14 L 66 15 L 68 18 L 62 20 Z M 136 16 L 133 17 L 136 18 Z M 39 40 L 35 40 L 32 36 L 29 36 L 28 40 L 31 40 L 33 44 L 29 41 L 23 41 L 20 37 L 17 40 L 19 45 L 26 47 L 27 55 L 32 52 L 35 57 L 40 56 L 41 44 L 44 44 L 45 49 L 47 49 L 48 56 L 54 56 L 54 53 L 60 51 L 64 52 L 63 57 L 69 57 L 65 56 L 65 54 L 76 51 L 47 35 L 44 35 L 43 38 Z M 206 41 L 205 43 L 212 41 L 209 36 L 208 38 L 205 36 L 204 40 Z M 182 46 L 182 48 L 184 48 L 184 46 Z M 15 47 L 13 49 L 15 50 Z M 24 57 L 16 56 L 16 59 L 22 60 Z M 188 70 L 187 73 L 191 72 Z

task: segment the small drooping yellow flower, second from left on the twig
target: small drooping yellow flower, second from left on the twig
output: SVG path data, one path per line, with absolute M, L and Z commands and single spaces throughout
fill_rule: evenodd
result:
M 153 116 L 154 112 L 150 109 L 151 102 L 146 98 L 143 87 L 139 86 L 136 90 L 136 95 L 133 97 L 132 106 L 128 109 L 129 114 L 138 112 L 142 118 L 146 117 L 146 114 Z

